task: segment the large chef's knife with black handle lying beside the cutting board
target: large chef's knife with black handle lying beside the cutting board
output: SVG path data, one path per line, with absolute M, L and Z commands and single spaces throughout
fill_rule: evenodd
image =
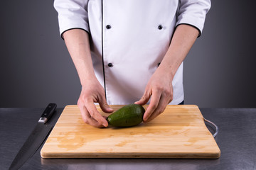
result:
M 26 142 L 23 144 L 14 161 L 11 163 L 9 170 L 19 169 L 33 154 L 36 153 L 43 141 L 46 139 L 48 133 L 53 128 L 53 125 L 49 125 L 47 121 L 55 112 L 57 105 L 55 103 L 49 103 L 45 111 L 38 120 L 36 128 L 33 129 L 31 135 L 29 135 Z

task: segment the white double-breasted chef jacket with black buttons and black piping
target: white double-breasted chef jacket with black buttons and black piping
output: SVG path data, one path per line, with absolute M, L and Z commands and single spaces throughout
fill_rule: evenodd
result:
M 144 94 L 146 84 L 166 54 L 179 24 L 200 34 L 210 0 L 55 0 L 60 35 L 80 28 L 90 33 L 95 74 L 108 104 L 129 104 Z M 172 81 L 174 99 L 183 101 L 183 63 Z

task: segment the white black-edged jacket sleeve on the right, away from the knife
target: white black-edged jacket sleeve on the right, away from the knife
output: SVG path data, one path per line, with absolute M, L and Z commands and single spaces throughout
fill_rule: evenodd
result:
M 199 30 L 199 35 L 203 31 L 206 13 L 210 9 L 210 0 L 180 0 L 177 11 L 176 26 L 188 24 Z

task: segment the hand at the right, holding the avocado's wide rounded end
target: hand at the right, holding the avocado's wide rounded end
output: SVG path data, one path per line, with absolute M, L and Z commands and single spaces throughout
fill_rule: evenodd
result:
M 171 74 L 166 74 L 167 69 L 158 68 L 149 79 L 144 95 L 135 102 L 135 104 L 144 105 L 149 101 L 149 107 L 146 108 L 143 121 L 147 123 L 164 112 L 166 106 L 173 100 L 173 86 Z

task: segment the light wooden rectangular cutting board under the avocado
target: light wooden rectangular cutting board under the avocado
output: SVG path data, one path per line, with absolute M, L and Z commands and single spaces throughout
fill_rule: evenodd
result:
M 111 107 L 116 111 L 122 106 Z M 41 157 L 215 159 L 220 149 L 198 106 L 167 106 L 151 122 L 131 128 L 94 128 L 83 123 L 78 106 L 70 105 L 46 140 Z

